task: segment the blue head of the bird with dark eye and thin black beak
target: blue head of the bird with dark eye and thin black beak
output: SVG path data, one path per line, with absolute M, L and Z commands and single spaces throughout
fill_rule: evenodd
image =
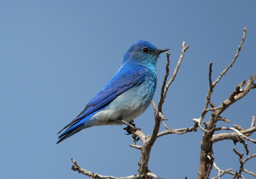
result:
M 146 40 L 139 40 L 132 44 L 124 55 L 124 62 L 139 63 L 146 66 L 155 66 L 160 53 L 170 49 L 157 49 L 153 44 Z

